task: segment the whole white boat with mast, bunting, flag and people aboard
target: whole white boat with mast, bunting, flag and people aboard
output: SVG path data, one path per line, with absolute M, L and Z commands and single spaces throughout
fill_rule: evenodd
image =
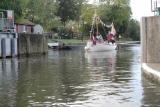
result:
M 108 28 L 111 28 L 111 31 L 109 31 L 107 35 L 107 41 L 103 40 L 102 35 L 99 33 L 98 24 L 101 23 L 102 26 L 105 24 L 102 22 L 102 20 L 99 18 L 99 16 L 96 15 L 96 12 L 93 17 L 92 21 L 92 27 L 90 31 L 90 39 L 87 41 L 86 46 L 84 47 L 85 51 L 111 51 L 115 50 L 117 48 L 117 45 L 115 43 L 115 34 L 116 30 L 114 28 L 114 24 L 111 25 L 105 25 Z M 110 38 L 110 39 L 108 39 Z M 112 38 L 112 39 L 111 39 Z M 109 43 L 108 43 L 109 41 Z M 113 42 L 114 41 L 114 42 Z M 112 42 L 112 43 L 110 43 Z

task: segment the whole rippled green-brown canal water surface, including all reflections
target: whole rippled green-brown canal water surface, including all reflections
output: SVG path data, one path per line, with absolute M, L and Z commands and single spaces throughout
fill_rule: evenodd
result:
M 141 74 L 140 45 L 0 60 L 0 107 L 157 107 L 160 85 Z

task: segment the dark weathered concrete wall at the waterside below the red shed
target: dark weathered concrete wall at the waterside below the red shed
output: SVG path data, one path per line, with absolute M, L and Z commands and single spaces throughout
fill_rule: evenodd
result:
M 18 55 L 45 54 L 48 52 L 47 38 L 42 34 L 18 34 Z

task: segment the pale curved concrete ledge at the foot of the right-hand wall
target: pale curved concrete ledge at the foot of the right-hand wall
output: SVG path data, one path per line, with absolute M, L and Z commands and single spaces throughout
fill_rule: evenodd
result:
M 149 67 L 147 63 L 142 63 L 142 72 L 146 78 L 160 83 L 160 72 Z

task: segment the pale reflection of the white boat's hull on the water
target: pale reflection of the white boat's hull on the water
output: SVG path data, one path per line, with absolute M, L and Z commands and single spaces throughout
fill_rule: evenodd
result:
M 85 58 L 88 62 L 88 68 L 93 70 L 105 68 L 109 72 L 115 71 L 116 66 L 116 54 L 117 51 L 107 51 L 107 52 L 86 52 Z

